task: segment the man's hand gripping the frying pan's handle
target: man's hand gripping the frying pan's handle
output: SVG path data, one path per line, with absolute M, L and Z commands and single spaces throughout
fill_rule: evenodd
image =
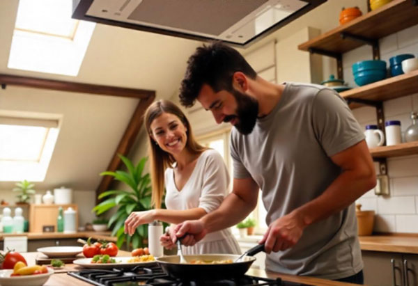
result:
M 291 212 L 273 221 L 259 243 L 265 244 L 266 253 L 284 251 L 299 241 L 305 227 L 302 216 Z

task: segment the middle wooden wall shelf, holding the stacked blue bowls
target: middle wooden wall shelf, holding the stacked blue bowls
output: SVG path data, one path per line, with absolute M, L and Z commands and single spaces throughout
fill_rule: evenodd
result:
M 417 15 L 418 18 L 418 15 Z M 353 88 L 340 93 L 345 98 L 358 98 L 362 100 L 385 101 L 397 97 L 418 93 L 418 70 L 401 74 L 396 77 L 389 77 L 382 81 L 373 82 L 359 88 Z M 352 103 L 351 109 L 364 105 Z

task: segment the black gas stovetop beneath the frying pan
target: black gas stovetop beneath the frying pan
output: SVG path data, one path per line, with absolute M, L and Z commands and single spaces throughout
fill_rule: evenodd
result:
M 84 269 L 81 271 L 68 272 L 68 275 L 84 280 L 97 286 L 212 286 L 212 285 L 280 285 L 280 286 L 308 286 L 300 283 L 292 283 L 280 278 L 268 279 L 254 276 L 241 276 L 233 279 L 216 281 L 189 281 L 180 280 L 168 276 L 162 269 L 155 265 L 151 267 L 137 266 L 133 269 Z

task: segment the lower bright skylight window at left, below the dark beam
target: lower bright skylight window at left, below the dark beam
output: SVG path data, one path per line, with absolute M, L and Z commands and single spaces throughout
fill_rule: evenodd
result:
M 56 117 L 56 116 L 55 116 Z M 0 112 L 0 181 L 42 182 L 59 134 L 59 120 Z

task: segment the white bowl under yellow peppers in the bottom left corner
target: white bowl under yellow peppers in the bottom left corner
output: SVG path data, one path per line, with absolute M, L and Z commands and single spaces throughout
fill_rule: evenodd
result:
M 48 267 L 48 273 L 32 274 L 24 276 L 11 276 L 13 269 L 0 270 L 1 286 L 40 286 L 47 282 L 49 276 L 54 274 L 54 269 Z

